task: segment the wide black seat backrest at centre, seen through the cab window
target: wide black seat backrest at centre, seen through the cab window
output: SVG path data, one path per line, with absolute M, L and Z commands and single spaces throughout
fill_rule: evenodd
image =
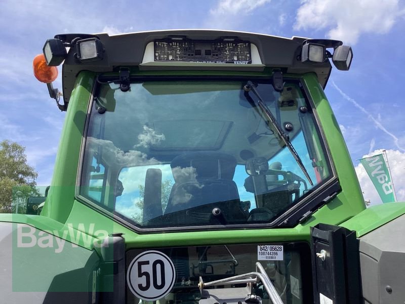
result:
M 232 180 L 236 159 L 219 152 L 193 152 L 171 163 L 175 180 L 165 214 L 216 202 L 239 200 Z

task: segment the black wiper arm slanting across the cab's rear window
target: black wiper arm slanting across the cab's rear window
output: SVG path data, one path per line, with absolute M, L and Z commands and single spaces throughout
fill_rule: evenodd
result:
M 311 184 L 311 186 L 313 186 L 313 182 L 311 180 L 311 178 L 309 177 L 309 174 L 307 172 L 307 170 L 304 167 L 304 164 L 301 161 L 300 156 L 298 155 L 297 151 L 295 150 L 293 144 L 290 141 L 290 137 L 285 134 L 281 127 L 278 125 L 275 117 L 272 115 L 272 113 L 267 109 L 266 105 L 264 104 L 264 101 L 262 99 L 262 97 L 260 97 L 259 92 L 257 91 L 256 87 L 253 85 L 253 83 L 251 81 L 248 81 L 248 83 L 245 85 L 244 90 L 246 92 L 250 92 L 252 91 L 256 97 L 259 99 L 257 101 L 257 105 L 260 107 L 260 109 L 265 113 L 265 115 L 267 116 L 268 120 L 271 122 L 271 124 L 273 125 L 275 131 L 277 132 L 278 136 L 280 137 L 280 139 L 284 142 L 284 144 L 288 147 L 288 149 L 290 150 L 291 154 L 293 155 L 295 161 L 297 162 L 298 166 L 300 166 L 302 172 L 305 174 L 306 178 L 308 179 L 309 183 Z

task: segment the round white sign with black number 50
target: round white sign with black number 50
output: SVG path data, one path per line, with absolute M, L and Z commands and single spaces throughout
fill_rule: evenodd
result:
M 127 282 L 132 293 L 147 301 L 167 295 L 173 288 L 176 272 L 172 260 L 164 253 L 149 250 L 130 263 Z

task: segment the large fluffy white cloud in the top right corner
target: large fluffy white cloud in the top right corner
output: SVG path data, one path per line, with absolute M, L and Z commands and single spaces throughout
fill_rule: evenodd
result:
M 327 36 L 355 44 L 362 33 L 387 33 L 405 10 L 398 0 L 303 0 L 294 29 L 326 29 Z

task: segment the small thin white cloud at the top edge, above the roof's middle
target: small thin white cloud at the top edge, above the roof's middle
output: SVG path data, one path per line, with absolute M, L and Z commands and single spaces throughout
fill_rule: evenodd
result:
M 271 0 L 220 0 L 216 8 L 211 9 L 212 15 L 237 15 L 250 13 Z

